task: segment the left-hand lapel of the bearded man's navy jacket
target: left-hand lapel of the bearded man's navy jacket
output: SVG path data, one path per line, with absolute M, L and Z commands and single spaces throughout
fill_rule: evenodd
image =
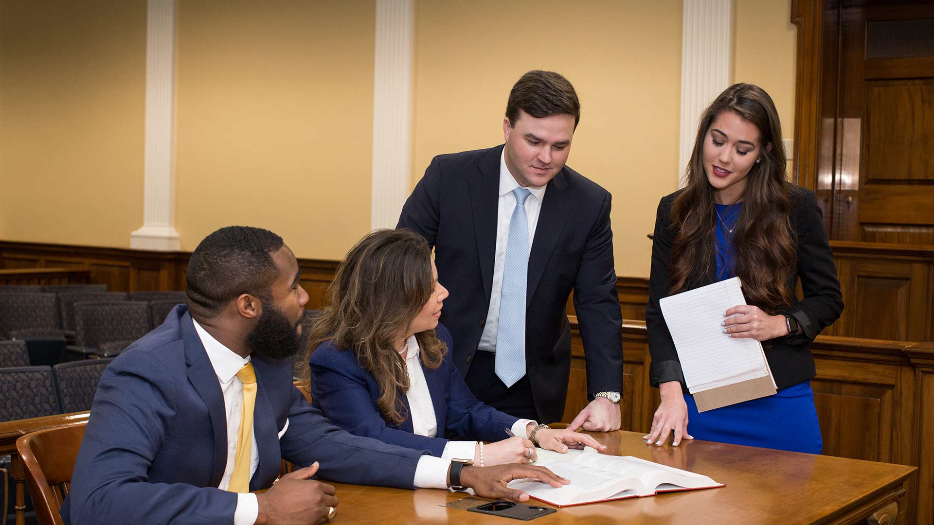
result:
M 194 330 L 191 314 L 186 312 L 179 322 L 182 340 L 185 343 L 188 379 L 205 402 L 214 429 L 214 471 L 211 474 L 211 487 L 217 487 L 227 467 L 227 414 L 224 410 L 224 397 L 220 391 L 218 375 L 207 358 L 201 338 Z

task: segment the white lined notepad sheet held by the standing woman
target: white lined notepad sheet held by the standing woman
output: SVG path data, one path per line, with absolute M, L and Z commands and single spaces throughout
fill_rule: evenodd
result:
M 672 333 L 688 390 L 706 390 L 769 374 L 761 344 L 722 332 L 723 313 L 745 305 L 739 277 L 665 297 L 659 301 Z M 710 386 L 710 383 L 715 385 Z

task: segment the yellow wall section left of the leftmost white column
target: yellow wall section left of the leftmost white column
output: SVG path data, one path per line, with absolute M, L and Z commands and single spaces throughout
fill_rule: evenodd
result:
M 145 88 L 145 0 L 0 3 L 0 238 L 130 246 Z

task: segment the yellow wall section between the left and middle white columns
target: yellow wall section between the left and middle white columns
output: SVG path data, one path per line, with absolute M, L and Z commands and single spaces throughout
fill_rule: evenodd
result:
M 341 259 L 370 229 L 375 3 L 178 3 L 181 248 L 220 226 Z

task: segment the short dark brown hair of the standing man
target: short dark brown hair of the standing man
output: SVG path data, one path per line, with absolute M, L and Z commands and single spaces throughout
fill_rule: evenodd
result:
M 506 103 L 509 125 L 516 125 L 520 110 L 536 119 L 572 115 L 574 129 L 577 129 L 577 122 L 581 120 L 581 103 L 577 100 L 577 92 L 567 78 L 554 71 L 536 69 L 517 80 Z

